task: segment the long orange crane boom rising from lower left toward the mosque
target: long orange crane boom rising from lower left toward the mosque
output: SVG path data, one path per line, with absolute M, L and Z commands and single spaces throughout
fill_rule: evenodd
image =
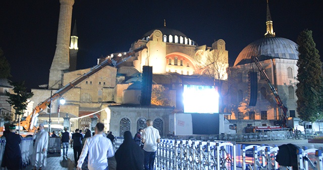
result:
M 108 57 L 106 58 L 102 63 L 94 66 L 91 68 L 91 70 L 87 73 L 84 73 L 83 75 L 79 76 L 72 82 L 66 84 L 65 87 L 61 88 L 57 92 L 55 92 L 51 97 L 46 99 L 45 101 L 41 102 L 38 104 L 34 110 L 32 111 L 31 114 L 29 114 L 25 120 L 20 122 L 20 125 L 27 131 L 27 132 L 34 132 L 36 130 L 36 127 L 33 126 L 34 121 L 36 117 L 38 116 L 39 112 L 41 110 L 44 110 L 47 108 L 47 106 L 50 104 L 50 102 L 55 101 L 56 99 L 60 98 L 63 96 L 65 93 L 70 91 L 71 89 L 75 88 L 77 84 L 91 76 L 92 74 L 96 73 L 97 71 L 101 70 L 103 67 L 109 65 L 109 66 L 114 66 L 117 67 L 119 64 L 125 62 L 128 60 L 132 55 L 136 54 L 137 52 L 142 51 L 143 49 L 146 49 L 146 46 L 141 46 L 133 51 L 127 52 L 124 55 L 121 56 L 114 56 L 114 57 Z M 18 124 L 17 124 L 18 125 Z

